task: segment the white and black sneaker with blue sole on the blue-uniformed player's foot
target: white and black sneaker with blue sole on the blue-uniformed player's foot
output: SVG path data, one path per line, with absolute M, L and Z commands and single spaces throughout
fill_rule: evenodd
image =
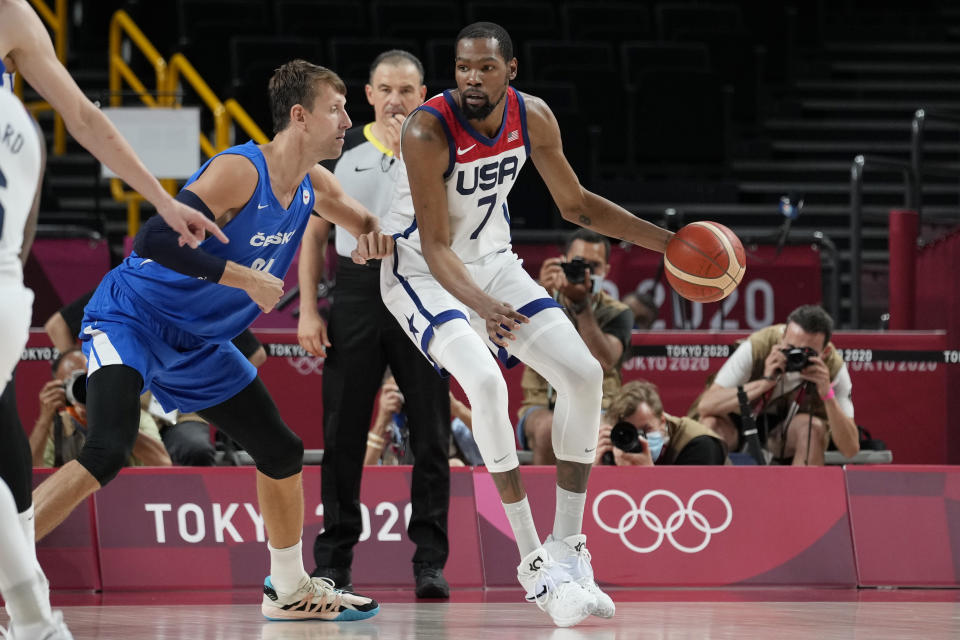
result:
M 270 576 L 263 581 L 260 611 L 268 620 L 366 620 L 380 612 L 373 598 L 334 589 L 328 578 L 304 575 L 296 591 L 278 593 Z

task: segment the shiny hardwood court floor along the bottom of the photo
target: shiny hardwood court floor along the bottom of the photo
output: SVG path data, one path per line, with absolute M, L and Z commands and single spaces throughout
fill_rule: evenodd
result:
M 54 604 L 76 640 L 960 638 L 956 591 L 619 591 L 612 620 L 570 629 L 553 627 L 512 591 L 455 592 L 449 603 L 410 601 L 404 592 L 371 595 L 383 603 L 380 614 L 347 623 L 267 622 L 249 592 L 57 595 Z M 84 599 L 91 604 L 78 604 Z

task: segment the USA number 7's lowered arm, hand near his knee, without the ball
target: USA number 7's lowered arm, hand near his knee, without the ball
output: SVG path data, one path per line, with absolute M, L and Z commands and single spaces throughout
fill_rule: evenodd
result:
M 512 330 L 529 320 L 510 305 L 484 293 L 450 248 L 450 214 L 443 182 L 449 154 L 443 130 L 433 115 L 418 111 L 407 118 L 403 129 L 403 157 L 420 246 L 430 272 L 444 289 L 486 320 L 487 333 L 494 343 L 506 347 L 507 341 L 514 339 Z

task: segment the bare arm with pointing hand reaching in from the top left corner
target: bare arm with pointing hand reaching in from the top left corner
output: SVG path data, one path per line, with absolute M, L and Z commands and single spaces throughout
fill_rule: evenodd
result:
M 17 72 L 63 116 L 77 142 L 156 207 L 181 242 L 196 247 L 207 232 L 227 242 L 216 224 L 163 190 L 113 123 L 83 95 L 57 60 L 50 35 L 25 0 L 0 4 L 0 41 L 11 43 L 9 57 Z

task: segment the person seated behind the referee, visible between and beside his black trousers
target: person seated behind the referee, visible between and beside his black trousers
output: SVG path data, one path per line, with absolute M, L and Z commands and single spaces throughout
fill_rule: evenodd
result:
M 450 393 L 450 466 L 482 466 L 480 448 L 473 439 L 473 414 L 470 407 Z M 410 430 L 403 411 L 403 394 L 393 376 L 388 375 L 380 387 L 377 417 L 367 434 L 367 453 L 363 463 L 413 464 L 412 451 L 407 447 Z

